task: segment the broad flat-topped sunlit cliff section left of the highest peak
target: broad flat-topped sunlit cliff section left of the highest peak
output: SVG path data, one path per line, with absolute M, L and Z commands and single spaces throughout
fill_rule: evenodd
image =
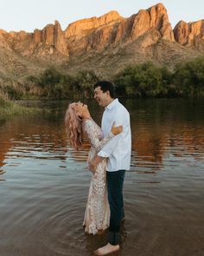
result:
M 115 27 L 124 20 L 117 11 L 71 23 L 65 30 L 70 53 L 103 50 L 112 43 Z

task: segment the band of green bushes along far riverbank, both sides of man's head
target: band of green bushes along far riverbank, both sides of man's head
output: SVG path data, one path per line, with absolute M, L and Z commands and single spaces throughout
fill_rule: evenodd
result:
M 88 98 L 92 85 L 101 79 L 93 70 L 71 75 L 50 67 L 19 82 L 4 82 L 2 91 L 10 99 Z M 127 66 L 112 82 L 123 97 L 203 97 L 204 57 L 178 63 L 173 70 L 151 62 Z

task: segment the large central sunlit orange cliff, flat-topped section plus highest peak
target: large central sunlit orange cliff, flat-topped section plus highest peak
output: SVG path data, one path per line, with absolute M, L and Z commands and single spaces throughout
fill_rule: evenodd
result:
M 158 3 L 149 10 L 140 10 L 137 15 L 123 18 L 118 12 L 112 11 L 99 18 L 81 20 L 72 23 L 65 31 L 70 51 L 103 50 L 115 47 L 118 43 L 132 42 L 145 33 L 157 32 L 154 39 L 163 38 L 175 41 L 174 33 L 169 23 L 167 10 Z M 147 47 L 156 41 L 148 38 L 143 40 Z

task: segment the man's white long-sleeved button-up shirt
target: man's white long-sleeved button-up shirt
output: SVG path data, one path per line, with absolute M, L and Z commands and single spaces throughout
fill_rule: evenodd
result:
M 113 100 L 105 108 L 101 125 L 104 137 L 111 132 L 114 121 L 115 126 L 123 126 L 123 132 L 108 141 L 98 153 L 101 157 L 108 157 L 108 172 L 129 170 L 131 166 L 130 115 L 124 105 L 118 102 L 118 99 Z

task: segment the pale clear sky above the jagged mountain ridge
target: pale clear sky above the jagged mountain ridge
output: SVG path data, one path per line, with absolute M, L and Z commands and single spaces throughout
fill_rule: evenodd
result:
M 65 30 L 79 19 L 102 16 L 111 10 L 129 17 L 156 3 L 166 7 L 173 28 L 180 20 L 188 23 L 204 18 L 204 0 L 0 0 L 0 29 L 33 32 L 58 20 Z

